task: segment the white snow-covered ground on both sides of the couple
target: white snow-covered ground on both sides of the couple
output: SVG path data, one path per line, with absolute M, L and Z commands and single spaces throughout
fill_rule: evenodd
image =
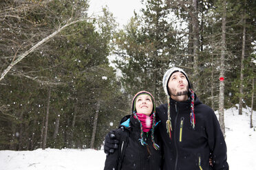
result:
M 231 170 L 255 170 L 256 128 L 250 128 L 250 108 L 238 115 L 237 108 L 225 110 L 226 145 Z M 256 126 L 256 112 L 253 112 Z M 0 151 L 0 170 L 102 170 L 105 154 L 93 149 L 36 149 Z

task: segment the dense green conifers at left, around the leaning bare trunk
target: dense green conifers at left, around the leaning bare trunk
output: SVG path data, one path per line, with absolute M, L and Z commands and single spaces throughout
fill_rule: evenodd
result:
M 1 80 L 0 149 L 98 148 L 109 123 L 118 125 L 122 96 L 107 59 L 114 20 L 107 10 L 89 19 L 87 8 L 81 0 L 1 1 L 0 74 L 36 42 L 84 20 L 37 47 Z

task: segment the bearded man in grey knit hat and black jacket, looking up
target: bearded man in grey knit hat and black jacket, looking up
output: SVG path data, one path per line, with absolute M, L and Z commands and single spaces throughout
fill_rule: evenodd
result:
M 228 169 L 226 143 L 217 117 L 193 93 L 186 73 L 173 67 L 164 74 L 162 84 L 167 104 L 156 108 L 156 115 L 161 121 L 163 169 Z M 108 139 L 107 135 L 105 145 L 109 145 Z

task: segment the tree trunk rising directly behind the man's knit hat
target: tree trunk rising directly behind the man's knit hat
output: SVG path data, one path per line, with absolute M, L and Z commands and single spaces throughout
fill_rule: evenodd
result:
M 194 70 L 194 88 L 198 91 L 199 88 L 199 24 L 198 24 L 198 1 L 192 0 L 193 14 L 192 14 L 192 29 L 193 29 L 193 70 Z M 199 93 L 199 92 L 198 92 Z

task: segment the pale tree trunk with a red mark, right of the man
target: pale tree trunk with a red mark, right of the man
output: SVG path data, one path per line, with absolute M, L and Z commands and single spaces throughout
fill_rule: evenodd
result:
M 224 77 L 225 73 L 225 53 L 226 53 L 226 0 L 222 1 L 222 40 L 221 40 L 221 56 L 220 56 L 220 77 Z M 224 124 L 224 81 L 220 81 L 220 95 L 219 95 L 219 121 L 222 133 L 225 136 Z

